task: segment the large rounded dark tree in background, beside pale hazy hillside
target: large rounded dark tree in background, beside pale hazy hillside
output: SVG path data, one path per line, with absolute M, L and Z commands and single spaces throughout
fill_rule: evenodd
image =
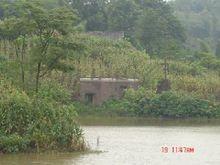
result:
M 151 56 L 164 56 L 165 51 L 169 51 L 168 45 L 182 45 L 185 41 L 184 30 L 178 20 L 165 15 L 162 11 L 147 9 L 137 21 L 135 35 Z

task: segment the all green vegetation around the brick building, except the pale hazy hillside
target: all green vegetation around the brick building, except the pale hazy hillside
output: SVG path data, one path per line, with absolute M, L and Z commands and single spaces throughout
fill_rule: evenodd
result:
M 188 31 L 168 3 L 0 4 L 0 152 L 84 150 L 77 113 L 220 117 L 218 53 L 203 40 L 196 51 L 184 47 Z M 112 40 L 91 35 L 91 30 L 124 31 L 125 37 Z M 128 89 L 121 100 L 88 106 L 75 99 L 80 77 L 136 78 L 140 89 Z M 162 82 L 168 87 L 158 92 Z

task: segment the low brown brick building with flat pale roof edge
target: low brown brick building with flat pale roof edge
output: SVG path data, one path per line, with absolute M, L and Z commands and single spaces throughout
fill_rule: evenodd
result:
M 80 101 L 100 105 L 104 101 L 120 99 L 127 88 L 138 88 L 137 79 L 81 78 Z

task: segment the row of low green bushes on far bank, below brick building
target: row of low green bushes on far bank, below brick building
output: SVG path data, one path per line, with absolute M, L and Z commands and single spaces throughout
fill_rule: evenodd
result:
M 77 108 L 78 109 L 78 108 Z M 197 96 L 173 91 L 156 94 L 143 88 L 127 90 L 122 100 L 110 100 L 99 107 L 81 106 L 80 114 L 139 117 L 219 117 L 220 106 Z

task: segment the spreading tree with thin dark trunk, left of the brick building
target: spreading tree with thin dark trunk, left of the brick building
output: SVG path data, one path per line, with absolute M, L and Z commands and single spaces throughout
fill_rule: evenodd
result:
M 25 4 L 26 10 L 30 13 L 31 19 L 35 23 L 35 32 L 32 42 L 34 42 L 33 63 L 36 63 L 36 85 L 38 92 L 40 78 L 44 77 L 47 71 L 53 68 L 53 65 L 63 56 L 60 48 L 63 45 L 65 37 L 73 29 L 75 15 L 66 7 L 54 9 L 44 9 L 40 4 L 31 2 Z M 56 42 L 54 42 L 56 41 Z M 56 49 L 51 51 L 51 49 Z M 53 52 L 53 62 L 49 66 L 45 65 L 48 61 L 48 53 Z M 47 62 L 48 63 L 48 62 Z M 46 70 L 43 72 L 43 70 Z

